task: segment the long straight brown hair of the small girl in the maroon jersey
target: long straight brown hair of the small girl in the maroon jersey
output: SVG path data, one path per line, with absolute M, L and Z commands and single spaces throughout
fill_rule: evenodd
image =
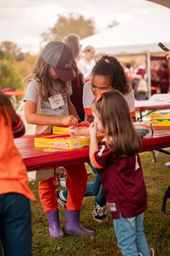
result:
M 107 90 L 92 103 L 92 110 L 106 131 L 107 145 L 118 157 L 134 156 L 141 151 L 141 139 L 132 124 L 129 106 L 122 93 Z

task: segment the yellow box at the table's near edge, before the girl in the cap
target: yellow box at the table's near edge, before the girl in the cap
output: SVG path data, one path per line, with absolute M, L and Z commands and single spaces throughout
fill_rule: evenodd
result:
M 104 135 L 97 136 L 97 141 L 101 142 Z M 89 147 L 90 136 L 69 136 L 52 134 L 49 136 L 34 138 L 34 146 L 41 148 L 62 148 L 62 149 L 74 149 Z

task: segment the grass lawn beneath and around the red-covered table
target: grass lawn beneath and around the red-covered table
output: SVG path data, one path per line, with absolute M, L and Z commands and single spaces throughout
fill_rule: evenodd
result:
M 148 210 L 145 213 L 145 234 L 148 244 L 155 250 L 156 256 L 170 255 L 170 198 L 167 200 L 167 214 L 162 214 L 162 198 L 170 184 L 170 168 L 164 164 L 170 161 L 168 155 L 159 153 L 157 163 L 152 163 L 151 152 L 141 154 L 143 172 L 148 191 Z M 94 174 L 89 175 L 89 180 Z M 81 224 L 94 230 L 96 236 L 74 237 L 66 236 L 63 239 L 48 237 L 48 222 L 43 212 L 38 196 L 38 184 L 31 184 L 32 191 L 38 202 L 32 203 L 32 252 L 37 256 L 114 256 L 122 255 L 117 246 L 111 216 L 102 224 L 92 218 L 94 198 L 84 198 L 81 210 Z M 64 230 L 64 209 L 59 205 L 60 224 Z M 168 214 L 169 213 L 169 214 Z M 145 255 L 144 255 L 145 256 Z

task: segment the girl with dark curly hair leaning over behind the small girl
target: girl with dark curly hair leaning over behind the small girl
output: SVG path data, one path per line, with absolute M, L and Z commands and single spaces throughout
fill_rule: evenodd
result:
M 93 122 L 94 116 L 92 115 L 92 102 L 102 90 L 108 89 L 118 90 L 124 95 L 129 106 L 131 118 L 135 121 L 134 93 L 127 77 L 125 76 L 124 68 L 117 58 L 107 55 L 97 61 L 92 70 L 91 81 L 85 83 L 83 88 L 83 107 L 85 109 L 86 120 L 89 123 Z M 80 136 L 89 134 L 89 128 L 77 129 L 73 127 L 72 129 L 72 127 L 70 127 L 69 132 L 71 135 Z M 96 172 L 94 168 L 93 170 Z M 85 196 L 96 196 L 94 211 L 92 213 L 94 220 L 102 222 L 106 219 L 106 197 L 97 172 L 94 182 L 87 183 Z M 66 204 L 67 189 L 57 192 L 57 200 L 63 206 Z

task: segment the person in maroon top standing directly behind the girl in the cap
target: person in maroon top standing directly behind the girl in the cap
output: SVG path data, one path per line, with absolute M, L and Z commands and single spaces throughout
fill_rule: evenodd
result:
M 80 57 L 80 37 L 78 35 L 69 34 L 62 40 L 73 51 L 73 63 L 74 72 L 76 72 L 76 78 L 71 81 L 71 88 L 73 93 L 70 95 L 71 102 L 78 113 L 78 116 L 83 121 L 85 118 L 85 111 L 83 109 L 83 86 L 84 78 L 76 65 L 76 60 Z

